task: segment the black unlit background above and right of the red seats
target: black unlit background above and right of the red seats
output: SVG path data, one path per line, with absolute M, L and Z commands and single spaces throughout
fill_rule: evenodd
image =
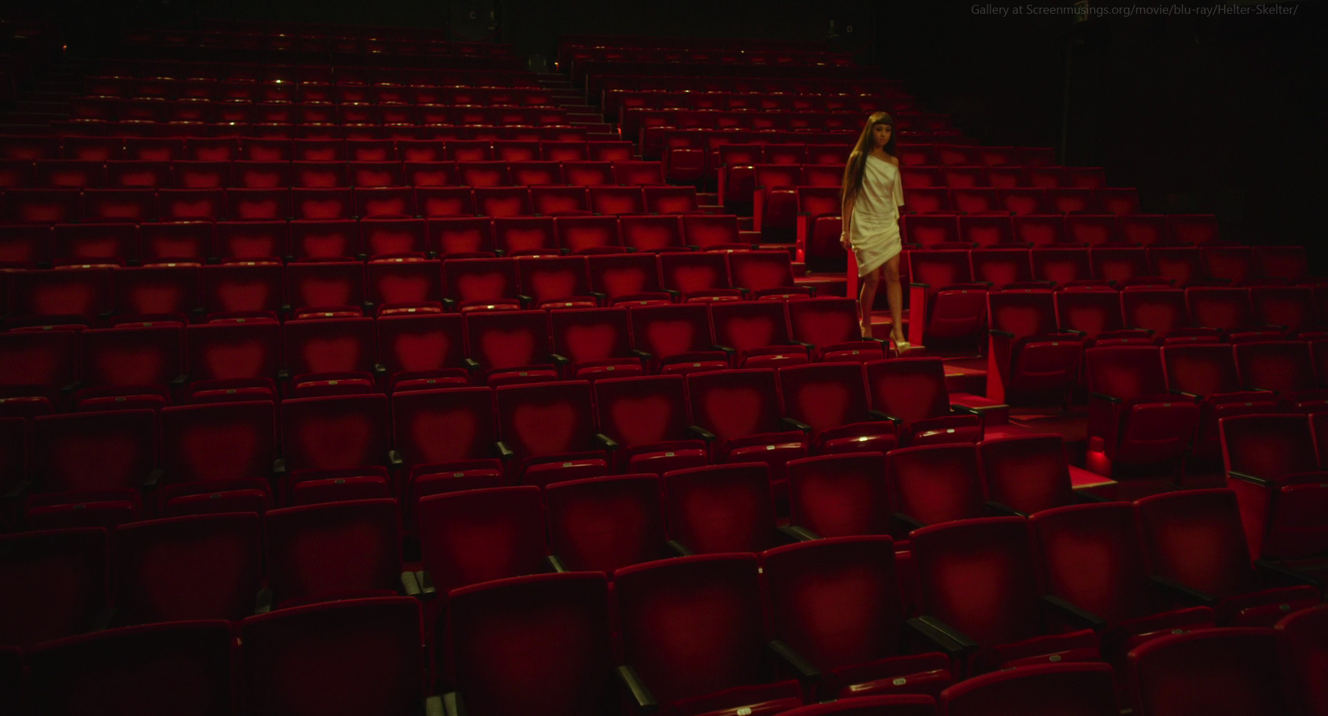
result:
M 1097 4 L 1097 3 L 1094 3 Z M 1068 5 L 1040 3 L 1038 5 Z M 1170 3 L 1167 3 L 1170 5 Z M 208 17 L 446 28 L 556 57 L 572 33 L 829 41 L 876 64 L 985 145 L 1053 146 L 1139 190 L 1143 211 L 1204 212 L 1223 236 L 1304 244 L 1328 264 L 1323 12 L 1097 17 L 983 15 L 996 3 L 871 0 L 53 0 L 19 12 L 97 52 L 113 28 L 207 28 Z M 1020 5 L 1027 8 L 1028 5 Z M 1198 5 L 1189 5 L 1198 7 Z M 1207 5 L 1211 7 L 1211 5 Z

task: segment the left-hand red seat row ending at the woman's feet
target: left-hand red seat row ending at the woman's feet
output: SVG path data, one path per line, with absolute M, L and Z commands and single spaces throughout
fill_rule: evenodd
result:
M 84 410 L 120 406 L 130 396 L 137 396 L 130 404 L 146 407 L 173 396 L 271 399 L 278 385 L 283 392 L 313 395 L 884 358 L 879 342 L 855 335 L 845 308 L 851 305 L 821 300 L 795 306 L 791 337 L 780 301 L 709 309 L 404 312 L 377 321 L 315 313 L 284 326 L 248 317 L 187 329 L 173 322 L 16 329 L 0 334 L 4 355 L 13 361 L 3 379 L 4 407 L 8 414 L 41 414 L 66 402 Z M 825 325 L 811 325 L 818 320 Z M 940 398 L 943 391 L 928 394 L 919 407 L 930 410 Z

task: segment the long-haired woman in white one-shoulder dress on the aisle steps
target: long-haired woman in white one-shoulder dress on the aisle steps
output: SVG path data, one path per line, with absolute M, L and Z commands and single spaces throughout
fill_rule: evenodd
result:
M 843 233 L 839 244 L 858 260 L 858 306 L 862 335 L 871 337 L 871 305 L 886 280 L 890 339 L 896 353 L 908 350 L 903 330 L 903 289 L 899 286 L 899 208 L 904 196 L 895 158 L 894 119 L 874 113 L 843 168 Z

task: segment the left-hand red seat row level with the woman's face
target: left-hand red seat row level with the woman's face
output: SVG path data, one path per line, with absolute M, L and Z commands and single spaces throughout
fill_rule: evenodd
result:
M 627 162 L 629 142 L 540 139 L 268 139 L 0 137 L 0 159 L 42 162 Z M 5 184 L 15 186 L 15 184 Z

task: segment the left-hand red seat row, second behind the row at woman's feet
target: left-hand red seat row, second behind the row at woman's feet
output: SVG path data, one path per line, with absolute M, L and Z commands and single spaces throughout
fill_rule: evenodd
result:
M 665 200 L 687 206 L 695 199 L 691 190 L 661 188 L 664 191 L 649 194 L 656 208 L 669 208 L 663 206 Z M 485 194 L 481 191 L 481 195 Z M 381 196 L 378 192 L 369 196 L 374 195 Z M 538 203 L 568 198 L 571 203 L 576 196 L 576 192 L 543 192 L 539 187 L 533 192 Z M 24 224 L 0 228 L 0 265 L 29 269 L 52 264 L 106 267 L 337 257 L 401 263 L 426 256 L 450 260 L 559 253 L 587 255 L 592 263 L 635 265 L 640 261 L 655 263 L 656 259 L 590 256 L 685 252 L 692 248 L 749 249 L 756 240 L 758 236 L 754 233 L 738 229 L 736 216 L 714 213 Z M 714 257 L 695 260 L 722 261 Z M 653 285 L 655 281 L 648 281 L 640 292 L 655 290 L 648 288 Z M 614 296 L 620 293 L 608 292 Z

